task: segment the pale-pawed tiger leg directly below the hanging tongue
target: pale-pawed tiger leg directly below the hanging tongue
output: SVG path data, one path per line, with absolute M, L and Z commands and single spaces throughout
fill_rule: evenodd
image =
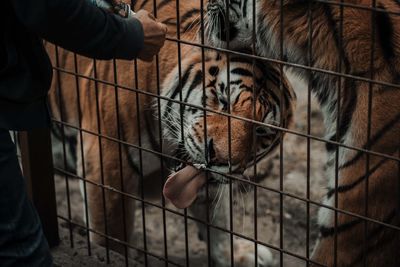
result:
M 207 209 L 209 208 L 210 223 L 229 230 L 229 185 L 221 184 L 219 189 L 210 186 L 208 198 L 204 191 L 199 194 L 199 197 L 190 207 L 190 212 L 195 218 L 207 221 Z M 210 257 L 213 266 L 231 266 L 230 234 L 212 226 L 207 230 L 207 226 L 204 223 L 198 223 L 197 225 L 201 240 L 207 242 L 207 236 L 210 237 Z M 208 231 L 209 233 L 207 233 Z M 233 250 L 234 266 L 255 266 L 253 242 L 234 237 Z M 258 245 L 257 252 L 257 266 L 267 267 L 273 264 L 272 254 L 268 248 Z

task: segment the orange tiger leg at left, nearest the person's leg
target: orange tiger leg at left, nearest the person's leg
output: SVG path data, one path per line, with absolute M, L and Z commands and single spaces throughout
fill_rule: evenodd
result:
M 121 181 L 119 147 L 118 144 L 101 139 L 101 151 L 97 136 L 83 134 L 84 159 L 80 157 L 78 149 L 78 166 L 85 165 L 86 196 L 89 209 L 89 226 L 94 230 L 91 241 L 124 254 L 125 247 L 120 242 L 106 240 L 105 235 L 129 242 L 134 227 L 134 201 L 120 192 L 109 189 L 122 190 L 125 193 L 134 193 L 137 190 L 138 179 L 133 176 L 127 166 L 127 154 L 122 148 L 122 175 Z M 100 161 L 100 155 L 102 159 Z M 80 170 L 79 170 L 80 169 Z M 82 168 L 78 167 L 78 171 Z M 123 182 L 123 183 L 122 183 Z M 104 185 L 104 186 L 103 186 Z M 81 186 L 81 189 L 84 187 Z M 82 190 L 83 192 L 83 190 Z M 84 193 L 84 192 L 83 192 Z M 125 209 L 125 210 L 124 210 Z M 85 217 L 85 216 L 84 216 Z

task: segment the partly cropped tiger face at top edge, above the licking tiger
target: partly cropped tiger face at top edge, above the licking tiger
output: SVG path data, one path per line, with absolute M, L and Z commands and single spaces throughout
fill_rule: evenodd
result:
M 229 46 L 233 50 L 249 47 L 253 42 L 254 4 L 255 0 L 209 0 L 205 25 L 207 44 L 223 48 Z

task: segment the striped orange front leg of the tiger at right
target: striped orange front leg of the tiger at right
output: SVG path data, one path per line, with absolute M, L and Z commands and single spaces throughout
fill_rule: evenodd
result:
M 359 109 L 354 112 L 345 142 L 365 147 L 367 122 L 370 121 L 373 125 L 371 149 L 398 157 L 400 114 L 390 111 L 396 110 L 399 98 L 393 91 L 375 92 L 370 120 L 365 112 L 367 108 L 363 108 L 368 99 L 364 92 L 368 90 L 359 91 Z M 395 102 L 388 101 L 396 98 Z M 387 110 L 381 112 L 382 109 Z M 354 144 L 357 141 L 359 143 Z M 332 209 L 320 209 L 320 238 L 313 260 L 325 266 L 400 266 L 400 231 L 396 229 L 400 226 L 399 163 L 374 155 L 367 158 L 365 153 L 345 148 L 339 149 L 339 155 L 338 184 L 335 186 L 332 175 L 324 201 L 325 205 L 337 206 L 338 210 L 335 214 Z M 328 170 L 328 175 L 333 170 L 333 167 Z

